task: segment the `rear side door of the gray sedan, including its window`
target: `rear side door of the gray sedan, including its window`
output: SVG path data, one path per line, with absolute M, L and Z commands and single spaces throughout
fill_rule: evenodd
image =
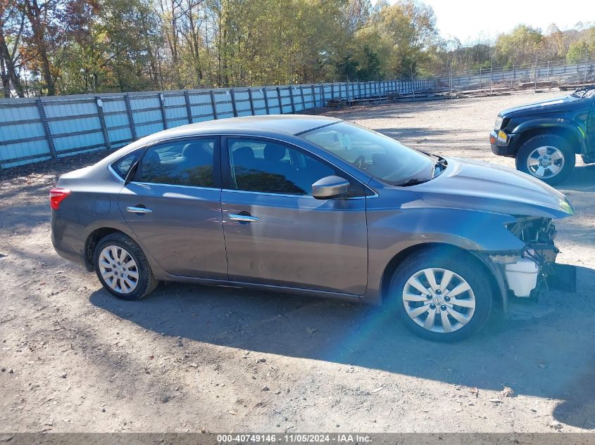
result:
M 146 148 L 118 197 L 146 252 L 176 276 L 227 279 L 218 138 Z

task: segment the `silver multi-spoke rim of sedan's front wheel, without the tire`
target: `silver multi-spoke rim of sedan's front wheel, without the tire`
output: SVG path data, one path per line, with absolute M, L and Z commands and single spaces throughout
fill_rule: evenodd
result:
M 448 269 L 432 267 L 414 273 L 403 288 L 409 318 L 426 330 L 452 333 L 475 313 L 475 294 L 467 281 Z

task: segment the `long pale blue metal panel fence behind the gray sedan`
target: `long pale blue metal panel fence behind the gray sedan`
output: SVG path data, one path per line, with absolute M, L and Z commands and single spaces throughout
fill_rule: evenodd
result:
M 192 122 L 296 113 L 434 88 L 435 79 L 196 89 L 0 100 L 0 168 L 96 150 Z

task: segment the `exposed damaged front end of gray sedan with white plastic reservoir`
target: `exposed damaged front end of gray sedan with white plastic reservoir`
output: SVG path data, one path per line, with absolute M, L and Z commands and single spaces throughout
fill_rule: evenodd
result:
M 509 295 L 537 300 L 552 289 L 576 292 L 575 267 L 556 264 L 560 251 L 554 244 L 556 225 L 551 218 L 518 216 L 506 228 L 525 243 L 518 253 L 490 255 L 501 268 Z

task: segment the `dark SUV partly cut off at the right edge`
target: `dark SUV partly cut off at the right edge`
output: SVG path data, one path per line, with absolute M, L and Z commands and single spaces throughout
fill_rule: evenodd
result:
M 489 143 L 496 155 L 515 157 L 521 172 L 549 184 L 563 181 L 575 154 L 595 162 L 595 85 L 501 111 Z

